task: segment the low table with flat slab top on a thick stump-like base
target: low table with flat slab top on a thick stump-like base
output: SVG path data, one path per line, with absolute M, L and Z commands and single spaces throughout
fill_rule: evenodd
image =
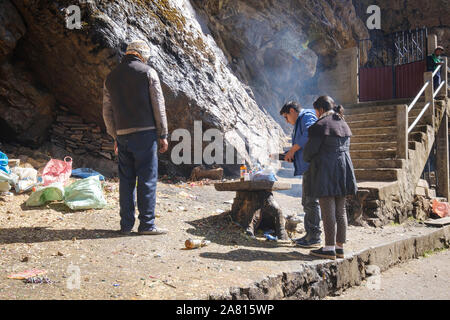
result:
M 273 229 L 280 240 L 288 240 L 285 219 L 273 197 L 275 190 L 289 190 L 290 183 L 272 181 L 232 181 L 215 183 L 217 191 L 236 191 L 231 217 L 248 235 L 258 228 Z

